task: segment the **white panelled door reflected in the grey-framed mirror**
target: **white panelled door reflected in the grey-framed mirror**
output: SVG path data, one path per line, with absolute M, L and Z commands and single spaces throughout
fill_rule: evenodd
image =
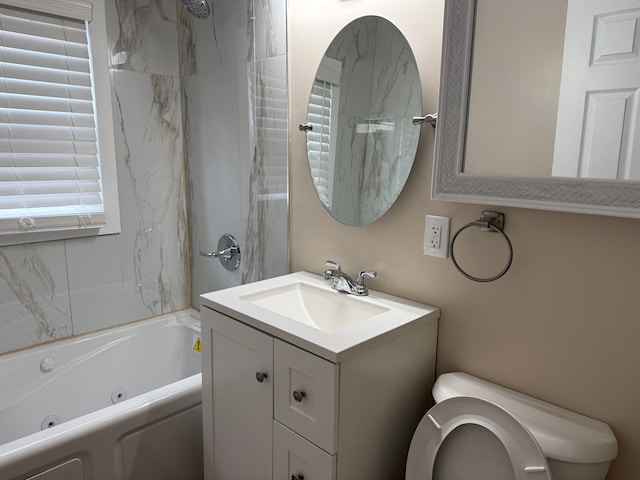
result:
M 569 0 L 553 175 L 640 180 L 640 0 Z

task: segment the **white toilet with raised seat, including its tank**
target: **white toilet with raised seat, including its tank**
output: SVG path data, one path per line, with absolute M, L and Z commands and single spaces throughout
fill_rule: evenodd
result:
M 603 422 L 466 373 L 441 375 L 405 480 L 604 480 L 618 453 Z

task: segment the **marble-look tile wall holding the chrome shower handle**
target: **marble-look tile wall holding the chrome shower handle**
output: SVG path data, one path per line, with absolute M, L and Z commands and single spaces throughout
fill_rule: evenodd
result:
M 288 272 L 285 0 L 216 0 L 178 28 L 192 241 L 192 302 Z M 230 233 L 235 272 L 198 255 Z

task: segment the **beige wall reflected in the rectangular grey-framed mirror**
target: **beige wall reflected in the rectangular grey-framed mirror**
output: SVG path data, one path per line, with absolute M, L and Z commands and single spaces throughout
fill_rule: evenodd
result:
M 551 176 L 566 18 L 566 0 L 479 2 L 465 172 Z

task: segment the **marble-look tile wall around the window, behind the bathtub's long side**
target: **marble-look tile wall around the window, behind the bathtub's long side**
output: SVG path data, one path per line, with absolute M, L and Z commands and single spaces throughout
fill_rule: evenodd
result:
M 0 353 L 191 303 L 176 0 L 106 6 L 122 233 L 0 248 Z

